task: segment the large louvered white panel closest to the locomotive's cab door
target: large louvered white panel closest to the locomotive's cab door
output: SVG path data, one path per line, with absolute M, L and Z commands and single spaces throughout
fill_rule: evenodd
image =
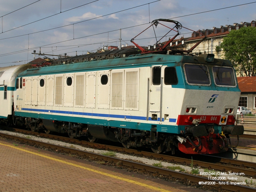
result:
M 125 71 L 125 109 L 139 109 L 139 69 Z

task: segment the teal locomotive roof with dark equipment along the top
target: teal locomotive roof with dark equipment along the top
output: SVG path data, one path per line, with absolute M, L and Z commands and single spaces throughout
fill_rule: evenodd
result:
M 51 66 L 30 68 L 19 76 L 47 75 L 58 73 L 73 73 L 82 71 L 109 70 L 118 68 L 137 68 L 152 65 L 162 65 L 173 63 L 173 66 L 179 66 L 181 62 L 205 64 L 203 57 L 190 55 L 170 55 L 170 54 L 147 53 L 140 54 L 137 48 L 113 50 L 108 52 L 80 55 L 69 58 L 61 58 L 51 63 Z M 196 60 L 195 60 L 196 58 Z M 232 66 L 228 60 L 214 59 L 213 62 L 207 62 L 211 65 Z

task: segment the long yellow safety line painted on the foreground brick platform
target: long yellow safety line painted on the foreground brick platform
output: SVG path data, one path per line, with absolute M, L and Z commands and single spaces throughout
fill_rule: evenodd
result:
M 161 188 L 156 188 L 154 186 L 150 186 L 150 185 L 138 182 L 138 181 L 125 179 L 123 177 L 118 177 L 116 175 L 108 174 L 108 173 L 97 171 L 97 170 L 94 170 L 94 169 L 91 169 L 91 168 L 88 168 L 88 167 L 84 167 L 84 166 L 81 166 L 81 165 L 69 163 L 67 161 L 63 161 L 63 160 L 60 160 L 60 159 L 56 159 L 56 158 L 53 158 L 53 157 L 49 157 L 49 156 L 46 156 L 46 155 L 42 155 L 42 154 L 39 154 L 39 153 L 28 151 L 26 149 L 18 148 L 18 147 L 12 146 L 12 145 L 7 145 L 7 144 L 4 144 L 4 143 L 0 143 L 0 145 L 4 145 L 4 146 L 7 146 L 7 147 L 18 149 L 18 150 L 21 150 L 21 151 L 24 151 L 24 152 L 27 152 L 27 153 L 31 153 L 31 154 L 34 154 L 34 155 L 37 155 L 37 156 L 40 156 L 40 157 L 44 157 L 44 158 L 47 158 L 47 159 L 51 159 L 53 161 L 57 161 L 57 162 L 60 162 L 60 163 L 64 163 L 64 164 L 72 165 L 72 166 L 75 166 L 75 167 L 79 167 L 79 168 L 82 168 L 82 169 L 85 169 L 85 170 L 88 170 L 88 171 L 91 171 L 91 172 L 95 172 L 95 173 L 99 173 L 101 175 L 105 175 L 105 176 L 108 176 L 108 177 L 115 178 L 115 179 L 118 179 L 118 180 L 122 180 L 122 181 L 126 181 L 126 182 L 133 183 L 133 184 L 136 184 L 136 185 L 140 185 L 140 186 L 143 186 L 143 187 L 147 187 L 147 188 L 150 188 L 150 189 L 153 189 L 153 190 L 156 190 L 156 191 L 171 192 L 171 191 L 161 189 Z

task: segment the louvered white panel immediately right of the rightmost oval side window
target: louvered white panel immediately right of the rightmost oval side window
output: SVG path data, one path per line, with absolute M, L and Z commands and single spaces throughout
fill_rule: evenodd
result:
M 123 109 L 124 70 L 111 73 L 111 109 Z

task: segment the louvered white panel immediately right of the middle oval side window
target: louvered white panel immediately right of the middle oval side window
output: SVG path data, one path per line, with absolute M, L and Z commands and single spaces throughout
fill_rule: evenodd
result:
M 75 106 L 84 107 L 85 74 L 76 74 Z

